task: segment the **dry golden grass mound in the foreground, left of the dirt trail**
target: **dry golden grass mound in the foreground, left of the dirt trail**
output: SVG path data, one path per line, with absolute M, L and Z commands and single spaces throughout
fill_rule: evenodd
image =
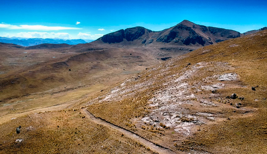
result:
M 127 136 L 83 117 L 79 111 L 46 112 L 2 124 L 0 153 L 152 153 Z M 16 134 L 19 125 L 21 132 Z M 18 138 L 23 141 L 16 143 Z

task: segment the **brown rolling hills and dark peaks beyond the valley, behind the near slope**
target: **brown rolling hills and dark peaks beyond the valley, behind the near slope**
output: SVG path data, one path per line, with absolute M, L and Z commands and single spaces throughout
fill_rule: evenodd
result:
M 173 40 L 163 39 L 169 38 L 174 31 Z M 123 38 L 123 41 L 114 42 L 114 39 L 119 39 L 116 35 Z M 0 100 L 6 102 L 51 89 L 61 91 L 66 84 L 69 88 L 90 85 L 93 84 L 92 79 L 100 76 L 106 81 L 111 74 L 133 75 L 137 71 L 210 44 L 207 41 L 216 43 L 217 39 L 238 36 L 240 33 L 233 30 L 196 25 L 184 20 L 159 32 L 134 27 L 106 34 L 92 43 L 78 45 L 47 43 L 22 47 L 2 43 L 0 52 L 4 56 L 0 59 Z M 144 42 L 144 39 L 152 38 L 155 43 Z M 202 43 L 193 38 L 202 40 Z M 191 41 L 186 43 L 186 39 Z M 110 44 L 109 41 L 114 43 Z

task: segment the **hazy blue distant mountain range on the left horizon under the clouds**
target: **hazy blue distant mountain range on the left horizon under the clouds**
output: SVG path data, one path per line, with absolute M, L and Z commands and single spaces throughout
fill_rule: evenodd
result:
M 66 43 L 70 45 L 76 45 L 80 43 L 89 43 L 94 40 L 83 40 L 83 39 L 70 39 L 70 40 L 64 40 L 60 38 L 20 38 L 20 37 L 12 37 L 12 38 L 6 38 L 6 37 L 0 37 L 0 42 L 2 43 L 13 43 L 21 46 L 33 46 L 43 43 L 52 43 L 52 44 L 61 44 Z

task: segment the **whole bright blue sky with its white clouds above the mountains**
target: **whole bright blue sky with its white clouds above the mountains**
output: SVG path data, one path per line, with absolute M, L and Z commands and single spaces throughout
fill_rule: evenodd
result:
M 241 33 L 267 26 L 267 1 L 1 0 L 0 36 L 97 39 L 119 29 L 159 31 L 186 19 Z

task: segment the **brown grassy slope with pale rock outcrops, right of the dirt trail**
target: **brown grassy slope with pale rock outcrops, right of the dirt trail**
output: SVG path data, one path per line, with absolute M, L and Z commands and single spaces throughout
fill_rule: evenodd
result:
M 75 106 L 177 152 L 265 153 L 266 59 L 264 30 L 151 67 Z

